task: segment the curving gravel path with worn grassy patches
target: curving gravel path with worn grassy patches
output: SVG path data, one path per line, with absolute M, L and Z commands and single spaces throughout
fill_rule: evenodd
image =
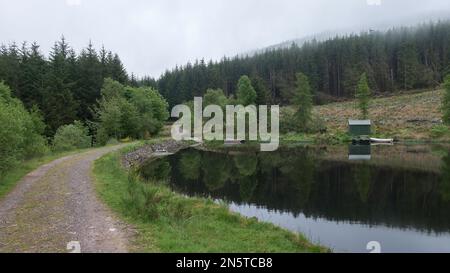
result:
M 121 147 L 64 157 L 24 177 L 0 200 L 0 252 L 127 252 L 131 228 L 98 200 L 91 178 L 94 160 Z

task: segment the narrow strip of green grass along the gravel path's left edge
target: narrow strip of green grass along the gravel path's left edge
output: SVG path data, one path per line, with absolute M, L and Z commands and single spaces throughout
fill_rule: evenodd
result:
M 52 162 L 55 159 L 77 154 L 83 151 L 86 151 L 88 149 L 83 150 L 74 150 L 69 152 L 55 152 L 50 153 L 48 155 L 37 157 L 29 160 L 25 160 L 12 168 L 11 170 L 7 171 L 6 173 L 2 174 L 0 177 L 0 199 L 2 199 L 6 194 L 8 194 L 16 184 L 28 173 L 31 171 L 37 169 L 38 167 L 47 164 L 49 162 Z

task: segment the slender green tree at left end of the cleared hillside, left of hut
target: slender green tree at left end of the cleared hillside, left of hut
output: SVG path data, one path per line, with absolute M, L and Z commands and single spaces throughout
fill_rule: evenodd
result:
M 308 77 L 303 73 L 296 75 L 296 90 L 291 98 L 291 103 L 297 108 L 295 120 L 302 131 L 307 131 L 308 123 L 311 121 L 313 107 L 311 86 Z

